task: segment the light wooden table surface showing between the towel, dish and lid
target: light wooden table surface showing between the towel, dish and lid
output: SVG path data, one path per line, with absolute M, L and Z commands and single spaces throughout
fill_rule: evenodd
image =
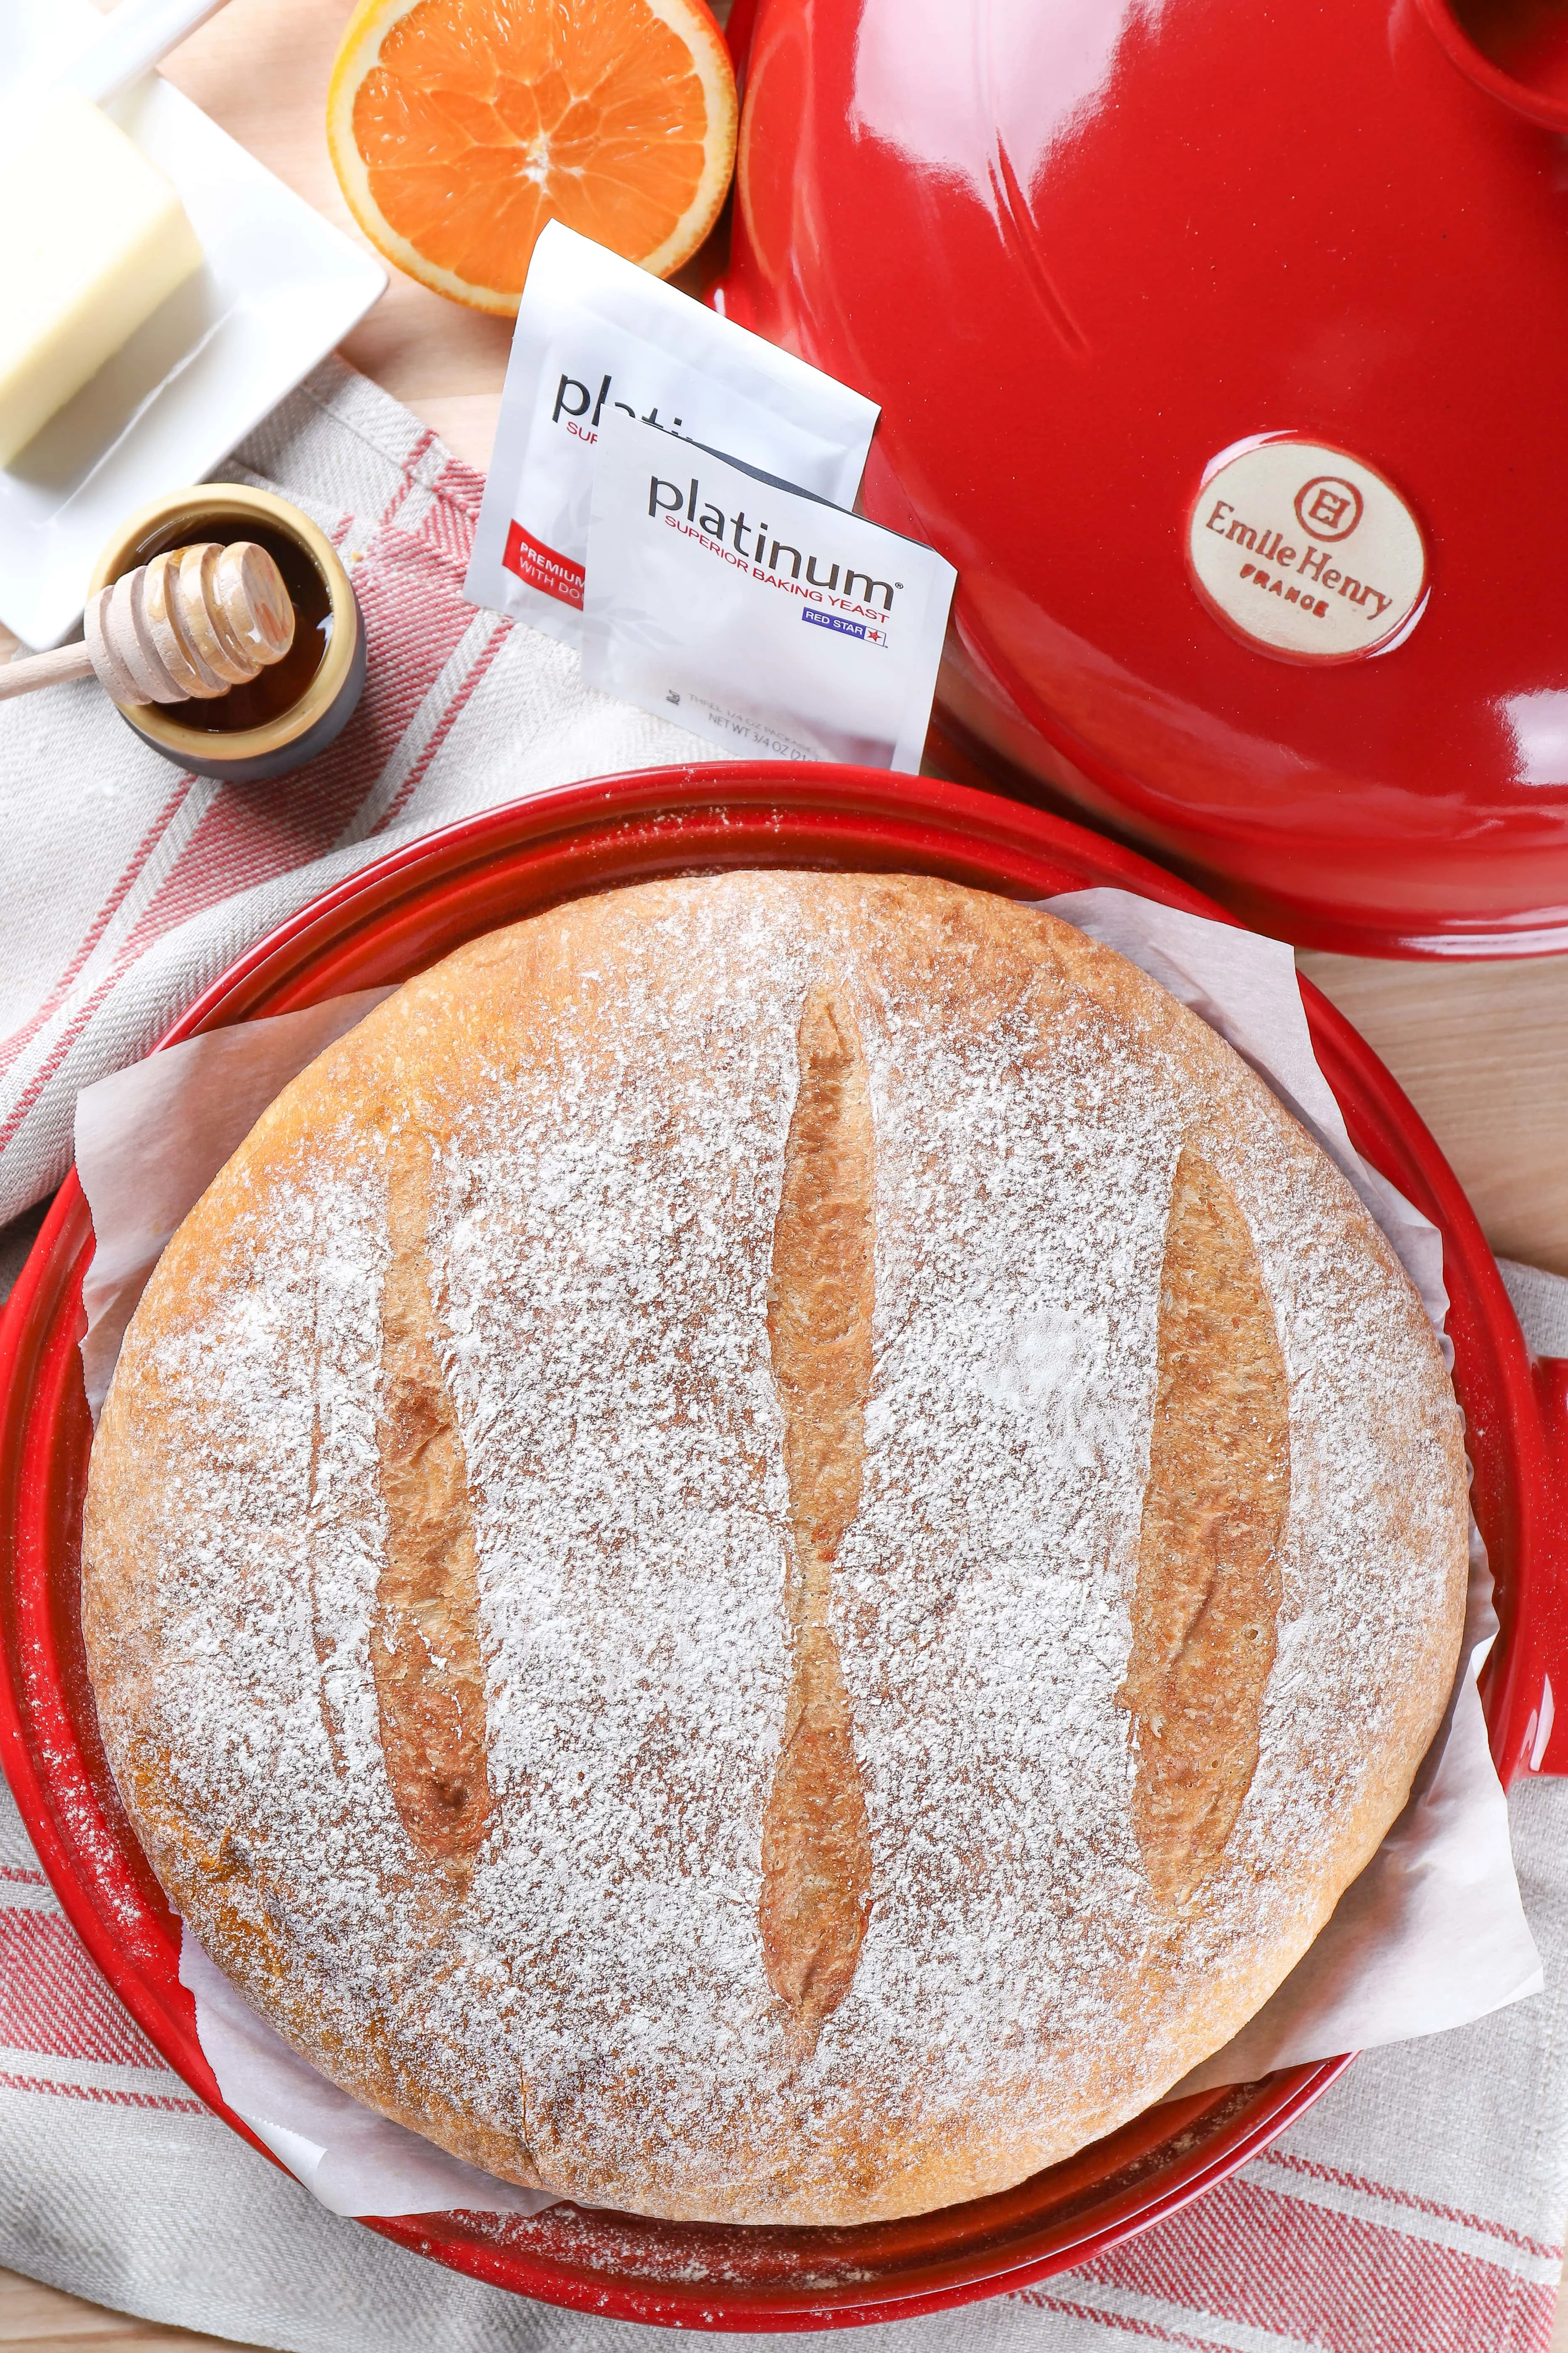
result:
M 327 73 L 353 0 L 228 0 L 165 71 L 252 155 L 357 238 L 327 160 Z M 343 346 L 475 466 L 489 461 L 510 325 L 393 273 Z M 1497 1252 L 1568 1273 L 1568 958 L 1392 965 L 1302 955 L 1389 1064 Z M 0 2348 L 216 2346 L 0 2271 Z M 437 2346 L 430 2353 L 440 2353 Z M 1568 2299 L 1554 2353 L 1568 2353 Z

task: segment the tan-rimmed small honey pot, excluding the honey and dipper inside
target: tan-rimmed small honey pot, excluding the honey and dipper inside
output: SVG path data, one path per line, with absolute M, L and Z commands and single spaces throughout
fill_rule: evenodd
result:
M 87 595 L 96 595 L 99 588 L 118 581 L 122 572 L 134 572 L 139 562 L 146 562 L 146 541 L 153 534 L 165 536 L 169 527 L 179 529 L 181 522 L 190 520 L 202 522 L 205 536 L 212 536 L 212 525 L 219 518 L 233 518 L 235 522 L 235 529 L 223 534 L 226 539 L 244 539 L 244 527 L 252 522 L 270 525 L 292 539 L 320 572 L 331 598 L 331 635 L 315 678 L 299 701 L 280 711 L 277 718 L 266 720 L 261 727 L 237 727 L 223 736 L 183 727 L 179 704 L 115 704 L 115 708 L 125 713 L 139 734 L 150 736 L 176 758 L 212 760 L 221 746 L 223 767 L 240 767 L 247 760 L 284 751 L 284 746 L 308 734 L 331 711 L 348 680 L 355 645 L 360 642 L 360 607 L 355 605 L 339 551 L 327 534 L 308 515 L 301 515 L 296 506 L 289 506 L 287 499 L 273 496 L 270 489 L 249 489 L 242 482 L 195 482 L 190 489 L 172 489 L 162 499 L 150 499 L 120 525 L 92 569 Z M 165 546 L 179 546 L 179 539 L 165 536 Z

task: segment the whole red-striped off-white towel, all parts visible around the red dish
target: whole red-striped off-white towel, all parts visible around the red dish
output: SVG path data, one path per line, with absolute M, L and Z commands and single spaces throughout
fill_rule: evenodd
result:
M 715 755 L 463 605 L 477 475 L 341 365 L 230 471 L 343 551 L 367 699 L 306 776 L 261 791 L 176 774 L 92 687 L 0 706 L 0 1224 L 63 1174 L 78 1089 L 327 882 L 527 791 Z M 1568 1285 L 1509 1280 L 1563 1353 Z M 1568 2207 L 1568 1786 L 1519 1788 L 1512 1821 L 1542 1995 L 1368 2054 L 1175 2219 L 1023 2294 L 870 2329 L 867 2353 L 1544 2353 Z M 237 2141 L 94 1974 L 2 1788 L 0 2264 L 289 2353 L 649 2344 L 425 2264 Z

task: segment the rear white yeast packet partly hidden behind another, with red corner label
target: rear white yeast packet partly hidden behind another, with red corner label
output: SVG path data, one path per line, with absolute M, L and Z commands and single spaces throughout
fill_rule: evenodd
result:
M 738 449 L 849 506 L 877 405 L 550 221 L 534 247 L 463 595 L 578 642 L 607 416 Z

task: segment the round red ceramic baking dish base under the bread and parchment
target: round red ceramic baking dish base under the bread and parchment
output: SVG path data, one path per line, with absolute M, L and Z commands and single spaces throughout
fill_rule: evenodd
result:
M 738 866 L 936 873 L 1013 899 L 1117 885 L 1229 920 L 1133 852 L 964 786 L 846 767 L 658 769 L 543 793 L 393 852 L 242 955 L 165 1045 L 402 981 L 581 892 Z M 1505 1777 L 1554 1769 L 1561 1744 L 1542 1722 L 1561 1652 L 1563 1372 L 1530 1365 L 1474 1214 L 1394 1080 L 1312 986 L 1302 998 L 1359 1151 L 1443 1231 L 1455 1384 L 1502 1614 L 1493 1751 Z M 120 1809 L 87 1682 L 78 1555 L 92 1428 L 78 1334 L 89 1254 L 87 1202 L 71 1176 L 0 1325 L 0 1753 L 87 1951 L 169 2066 L 254 2139 L 219 2099 L 195 2040 L 179 1922 Z M 1265 2148 L 1347 2064 L 1150 2108 L 999 2198 L 858 2231 L 661 2224 L 574 2205 L 369 2228 L 470 2278 L 618 2320 L 820 2329 L 912 2318 L 1025 2287 L 1173 2214 Z

